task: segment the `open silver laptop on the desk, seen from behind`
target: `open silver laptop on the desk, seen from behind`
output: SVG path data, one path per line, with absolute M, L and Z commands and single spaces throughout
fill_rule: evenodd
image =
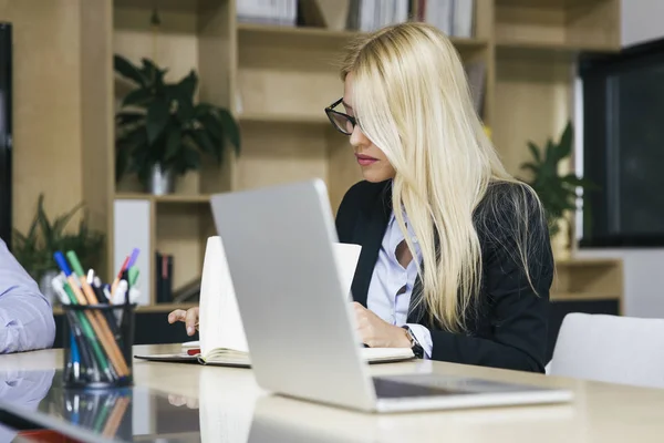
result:
M 210 203 L 262 389 L 366 412 L 571 400 L 567 390 L 433 373 L 372 378 L 336 269 L 324 182 L 217 194 Z

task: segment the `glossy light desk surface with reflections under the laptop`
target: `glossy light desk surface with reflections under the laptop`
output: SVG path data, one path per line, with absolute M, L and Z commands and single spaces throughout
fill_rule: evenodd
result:
M 142 354 L 177 351 L 179 346 L 135 347 L 135 353 Z M 541 443 L 664 439 L 664 390 L 656 389 L 430 361 L 383 364 L 372 365 L 372 372 L 433 371 L 566 387 L 573 390 L 575 399 L 559 405 L 377 415 L 270 395 L 258 388 L 248 369 L 139 360 L 134 361 L 133 390 L 114 398 L 75 399 L 60 388 L 55 370 L 60 370 L 61 359 L 61 350 L 1 356 L 4 383 L 0 409 L 13 408 L 23 415 L 34 411 L 35 421 L 91 440 L 91 433 L 76 434 L 62 416 L 72 420 L 68 408 L 75 402 L 86 400 L 95 406 L 106 402 L 113 408 L 107 408 L 103 418 L 100 413 L 85 418 L 85 411 L 76 416 L 79 429 L 81 423 L 89 429 L 98 424 L 98 441 Z M 23 391 L 28 392 L 28 406 L 21 403 L 25 399 L 17 400 Z M 118 423 L 108 424 L 113 416 Z

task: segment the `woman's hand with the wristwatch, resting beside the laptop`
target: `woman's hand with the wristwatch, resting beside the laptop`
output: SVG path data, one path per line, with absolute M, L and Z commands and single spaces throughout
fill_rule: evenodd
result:
M 382 318 L 359 302 L 353 302 L 357 332 L 364 344 L 371 348 L 411 348 L 405 329 L 383 321 Z

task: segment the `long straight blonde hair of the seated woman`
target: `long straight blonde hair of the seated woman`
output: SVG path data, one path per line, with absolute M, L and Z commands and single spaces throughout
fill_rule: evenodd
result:
M 384 153 L 396 175 L 393 208 L 405 209 L 422 251 L 423 281 L 416 303 L 429 321 L 449 331 L 467 330 L 467 315 L 481 288 L 483 260 L 474 215 L 495 183 L 518 183 L 502 166 L 475 112 L 464 66 L 452 42 L 436 28 L 402 23 L 357 41 L 341 70 L 353 74 L 353 109 L 362 132 Z M 510 193 L 522 219 L 513 233 L 529 284 L 528 220 L 532 189 Z M 487 198 L 485 216 L 500 223 L 505 202 Z M 405 235 L 402 210 L 394 210 Z M 502 217 L 505 218 L 505 217 Z M 489 229 L 489 228 L 488 228 Z M 498 243 L 505 239 L 497 238 Z

